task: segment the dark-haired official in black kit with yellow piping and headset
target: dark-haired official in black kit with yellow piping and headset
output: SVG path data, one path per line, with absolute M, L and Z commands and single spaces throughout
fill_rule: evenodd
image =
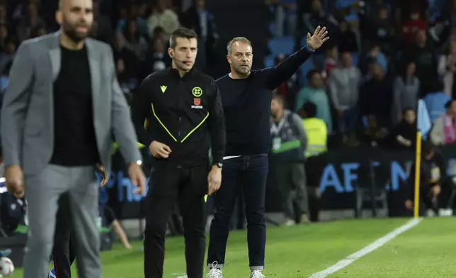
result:
M 178 28 L 169 40 L 171 68 L 146 77 L 131 107 L 139 143 L 149 146 L 153 157 L 144 231 L 144 277 L 163 277 L 166 223 L 178 201 L 186 242 L 187 276 L 202 278 L 205 194 L 217 191 L 222 180 L 222 101 L 215 80 L 193 69 L 198 51 L 196 33 Z

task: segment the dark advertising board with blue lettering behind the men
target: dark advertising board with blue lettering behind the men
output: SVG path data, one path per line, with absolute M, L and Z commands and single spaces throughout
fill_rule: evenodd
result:
M 440 148 L 445 165 L 456 163 L 456 146 Z M 142 148 L 144 172 L 150 170 L 150 156 Z M 356 187 L 368 187 L 371 182 L 365 179 L 368 165 L 372 164 L 377 173 L 372 182 L 377 187 L 385 187 L 388 194 L 389 216 L 404 215 L 404 187 L 415 159 L 413 151 L 384 150 L 380 148 L 345 148 L 329 150 L 324 157 L 321 169 L 319 189 L 321 191 L 321 210 L 342 210 L 355 208 Z M 266 190 L 266 211 L 281 211 L 280 193 L 275 181 L 274 169 L 270 165 L 268 186 Z M 379 168 L 380 167 L 380 168 Z M 126 165 L 120 152 L 113 154 L 113 169 L 110 180 L 102 189 L 101 201 L 114 209 L 119 218 L 140 218 L 144 216 L 144 197 L 135 194 L 132 182 L 127 176 Z M 101 177 L 100 177 L 101 179 Z M 0 187 L 2 180 L 0 179 Z M 0 188 L 0 190 L 2 190 Z M 4 189 L 3 189 L 4 190 Z

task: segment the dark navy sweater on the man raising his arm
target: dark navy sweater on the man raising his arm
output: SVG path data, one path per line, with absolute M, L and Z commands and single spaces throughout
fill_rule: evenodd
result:
M 227 128 L 226 156 L 269 152 L 271 91 L 290 79 L 311 52 L 302 48 L 280 65 L 252 70 L 244 79 L 229 74 L 217 79 Z

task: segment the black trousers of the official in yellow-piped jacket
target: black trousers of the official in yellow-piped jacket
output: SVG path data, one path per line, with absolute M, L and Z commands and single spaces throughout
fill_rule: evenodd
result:
M 205 255 L 207 166 L 153 168 L 147 194 L 144 231 L 144 277 L 163 277 L 166 223 L 178 201 L 186 243 L 188 278 L 202 278 Z

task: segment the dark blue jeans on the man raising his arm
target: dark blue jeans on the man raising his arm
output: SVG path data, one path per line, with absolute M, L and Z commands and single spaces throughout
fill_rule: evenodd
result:
M 222 186 L 215 194 L 215 213 L 210 226 L 207 265 L 222 267 L 225 261 L 229 221 L 239 191 L 244 194 L 247 218 L 247 244 L 251 269 L 263 269 L 266 245 L 264 206 L 268 155 L 245 155 L 224 160 Z

